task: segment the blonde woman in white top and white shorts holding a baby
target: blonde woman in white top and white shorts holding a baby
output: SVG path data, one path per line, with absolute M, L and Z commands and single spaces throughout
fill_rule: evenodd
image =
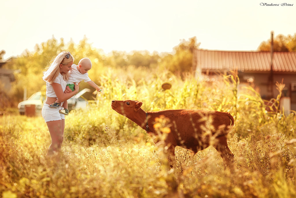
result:
M 66 81 L 68 80 L 68 72 L 72 69 L 74 57 L 70 52 L 59 53 L 52 63 L 46 68 L 43 74 L 43 80 L 46 81 L 46 101 L 42 108 L 42 117 L 44 118 L 52 143 L 48 148 L 47 155 L 57 154 L 61 150 L 62 142 L 64 139 L 65 129 L 65 115 L 59 113 L 59 109 L 50 108 L 57 98 L 63 102 L 71 98 L 79 91 L 79 83 L 75 83 L 75 91 L 67 87 Z

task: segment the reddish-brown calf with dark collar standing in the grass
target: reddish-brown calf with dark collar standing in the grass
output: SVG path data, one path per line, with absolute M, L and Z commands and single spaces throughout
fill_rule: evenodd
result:
M 227 134 L 234 119 L 229 113 L 203 110 L 162 110 L 145 112 L 141 109 L 142 102 L 134 100 L 113 100 L 111 107 L 117 113 L 126 116 L 135 122 L 151 136 L 157 136 L 153 125 L 155 118 L 169 119 L 169 133 L 164 140 L 168 147 L 168 157 L 171 162 L 175 160 L 175 147 L 181 146 L 194 153 L 212 145 L 221 155 L 224 165 L 231 165 L 233 154 L 227 145 Z M 211 121 L 210 124 L 208 121 Z M 152 138 L 157 144 L 159 139 Z M 172 167 L 172 164 L 170 164 Z

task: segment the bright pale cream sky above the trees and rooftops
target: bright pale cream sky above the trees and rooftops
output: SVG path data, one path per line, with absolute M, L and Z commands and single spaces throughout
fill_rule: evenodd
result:
M 271 31 L 275 36 L 296 33 L 296 0 L 0 1 L 4 59 L 33 51 L 52 36 L 78 44 L 85 35 L 93 47 L 109 53 L 172 52 L 182 39 L 194 36 L 203 49 L 257 50 Z

